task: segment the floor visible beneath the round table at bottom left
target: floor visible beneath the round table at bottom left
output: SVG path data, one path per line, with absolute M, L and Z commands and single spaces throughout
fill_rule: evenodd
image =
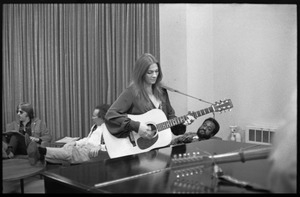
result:
M 20 181 L 2 181 L 2 193 L 21 193 Z M 40 175 L 24 179 L 24 193 L 45 193 L 44 179 Z

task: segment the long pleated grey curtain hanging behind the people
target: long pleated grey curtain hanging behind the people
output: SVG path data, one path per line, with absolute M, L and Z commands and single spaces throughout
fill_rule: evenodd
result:
M 96 105 L 128 86 L 136 59 L 159 60 L 158 4 L 4 4 L 2 130 L 20 102 L 53 139 L 85 137 Z

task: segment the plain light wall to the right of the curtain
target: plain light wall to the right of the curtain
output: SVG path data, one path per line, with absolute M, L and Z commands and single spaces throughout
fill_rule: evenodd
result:
M 229 126 L 277 128 L 297 89 L 297 7 L 284 4 L 160 4 L 161 65 L 173 89 L 209 101 L 231 99 L 215 113 L 217 136 Z M 170 92 L 177 116 L 210 106 Z M 295 106 L 296 107 L 296 106 Z M 188 127 L 196 131 L 199 117 Z

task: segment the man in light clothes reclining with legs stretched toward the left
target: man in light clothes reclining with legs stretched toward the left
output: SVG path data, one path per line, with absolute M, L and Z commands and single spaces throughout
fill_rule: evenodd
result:
M 106 151 L 102 137 L 105 114 L 110 106 L 103 104 L 95 107 L 93 111 L 93 122 L 91 131 L 87 137 L 78 141 L 66 143 L 63 147 L 41 147 L 37 143 L 31 142 L 28 145 L 27 152 L 29 161 L 34 165 L 38 160 L 53 161 L 58 163 L 82 163 L 98 155 L 98 152 Z M 60 162 L 61 161 L 61 162 Z

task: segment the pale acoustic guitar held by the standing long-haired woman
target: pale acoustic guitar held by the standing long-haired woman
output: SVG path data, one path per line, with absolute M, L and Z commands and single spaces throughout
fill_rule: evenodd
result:
M 187 115 L 192 115 L 196 119 L 208 113 L 230 110 L 232 107 L 231 100 L 226 99 L 224 101 L 215 102 L 215 104 L 206 109 L 190 112 Z M 117 158 L 133 155 L 170 145 L 172 141 L 172 132 L 170 128 L 184 123 L 187 119 L 187 115 L 167 120 L 165 113 L 160 109 L 152 109 L 140 115 L 129 114 L 128 117 L 130 119 L 145 122 L 151 127 L 151 130 L 154 133 L 152 139 L 142 138 L 134 131 L 131 131 L 130 136 L 127 138 L 117 138 L 112 135 L 106 125 L 104 125 L 103 137 L 109 157 Z

